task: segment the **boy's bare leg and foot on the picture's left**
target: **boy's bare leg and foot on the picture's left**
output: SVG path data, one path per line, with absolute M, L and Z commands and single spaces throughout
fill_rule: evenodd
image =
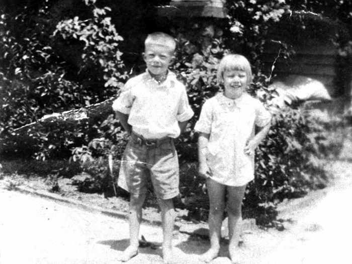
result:
M 130 226 L 130 245 L 123 251 L 119 260 L 125 262 L 138 254 L 139 246 L 139 227 L 142 220 L 142 206 L 146 194 L 130 196 L 129 226 Z

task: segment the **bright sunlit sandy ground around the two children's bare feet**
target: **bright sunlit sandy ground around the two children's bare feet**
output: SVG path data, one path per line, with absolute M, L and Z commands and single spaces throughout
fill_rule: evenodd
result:
M 350 263 L 352 163 L 333 162 L 334 184 L 280 206 L 286 230 L 254 229 L 243 234 L 239 254 L 246 263 Z M 126 248 L 128 224 L 54 201 L 0 190 L 0 263 L 117 263 Z M 154 245 L 140 249 L 128 263 L 162 263 L 161 230 L 143 225 Z M 199 263 L 207 240 L 176 233 L 174 263 Z M 212 263 L 230 263 L 226 245 Z

